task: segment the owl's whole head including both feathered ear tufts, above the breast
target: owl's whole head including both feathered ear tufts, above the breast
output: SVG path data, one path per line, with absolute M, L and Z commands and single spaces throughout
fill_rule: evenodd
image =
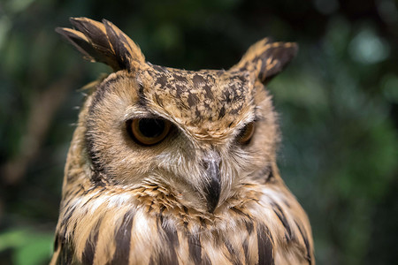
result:
M 214 213 L 242 186 L 279 178 L 278 126 L 264 84 L 295 57 L 295 43 L 264 39 L 227 71 L 186 71 L 150 64 L 107 20 L 71 23 L 57 32 L 113 72 L 80 112 L 65 191 L 77 183 L 154 186 L 184 207 Z

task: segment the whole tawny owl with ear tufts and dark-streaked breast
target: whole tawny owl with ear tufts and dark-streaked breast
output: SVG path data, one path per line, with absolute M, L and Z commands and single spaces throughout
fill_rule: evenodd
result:
M 150 64 L 111 22 L 57 28 L 113 72 L 90 90 L 65 164 L 50 264 L 314 264 L 276 163 L 264 87 L 295 57 L 265 38 L 229 70 Z

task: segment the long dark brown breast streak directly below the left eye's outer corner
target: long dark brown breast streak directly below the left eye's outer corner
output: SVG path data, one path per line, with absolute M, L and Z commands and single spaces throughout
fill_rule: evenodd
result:
M 134 216 L 135 210 L 128 211 L 123 217 L 123 222 L 118 231 L 116 231 L 116 248 L 111 264 L 128 264 Z

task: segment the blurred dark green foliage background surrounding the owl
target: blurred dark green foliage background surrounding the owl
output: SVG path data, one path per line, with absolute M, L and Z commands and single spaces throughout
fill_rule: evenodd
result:
M 269 84 L 279 166 L 310 216 L 318 264 L 398 260 L 398 3 L 394 0 L 1 0 L 0 264 L 46 264 L 84 95 L 110 69 L 55 27 L 108 19 L 153 64 L 229 68 L 272 36 L 300 44 Z

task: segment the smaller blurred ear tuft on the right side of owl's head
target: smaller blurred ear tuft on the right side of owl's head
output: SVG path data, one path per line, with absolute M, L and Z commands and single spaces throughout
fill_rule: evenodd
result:
M 261 82 L 267 83 L 287 66 L 297 51 L 298 46 L 294 42 L 272 42 L 265 38 L 253 44 L 232 69 L 255 72 Z

